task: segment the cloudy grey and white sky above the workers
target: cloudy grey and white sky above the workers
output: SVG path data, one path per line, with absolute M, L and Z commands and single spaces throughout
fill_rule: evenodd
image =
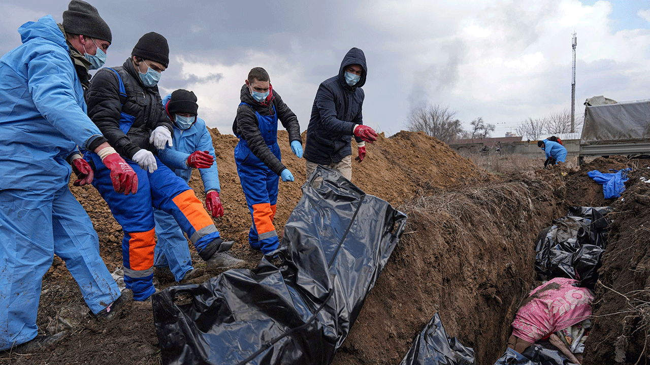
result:
M 274 90 L 307 128 L 318 84 L 351 47 L 369 73 L 363 120 L 387 135 L 413 108 L 447 105 L 466 127 L 477 117 L 495 136 L 525 118 L 571 108 L 571 34 L 577 32 L 576 114 L 588 97 L 650 99 L 650 1 L 361 0 L 90 1 L 109 24 L 105 66 L 120 66 L 138 38 L 170 44 L 161 94 L 193 90 L 209 127 L 232 133 L 248 71 L 268 71 Z M 0 0 L 0 55 L 16 29 L 68 1 Z M 1 81 L 0 81 L 1 82 Z M 164 95 L 162 95 L 164 96 Z

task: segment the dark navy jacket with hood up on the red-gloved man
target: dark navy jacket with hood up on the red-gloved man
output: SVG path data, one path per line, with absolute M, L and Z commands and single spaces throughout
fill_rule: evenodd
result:
M 361 79 L 354 86 L 349 86 L 345 81 L 345 68 L 351 64 L 359 64 L 363 68 Z M 307 127 L 305 159 L 329 165 L 352 155 L 350 136 L 354 135 L 356 124 L 363 124 L 361 106 L 364 94 L 361 86 L 365 84 L 367 73 L 363 51 L 352 48 L 341 62 L 339 75 L 318 86 Z M 355 139 L 361 142 L 361 139 Z

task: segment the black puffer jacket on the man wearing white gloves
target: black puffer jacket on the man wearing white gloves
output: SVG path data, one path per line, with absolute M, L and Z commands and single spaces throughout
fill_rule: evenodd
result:
M 151 131 L 164 125 L 174 135 L 174 126 L 162 106 L 158 86 L 148 88 L 142 84 L 131 58 L 113 69 L 122 78 L 126 97 L 120 96 L 118 75 L 108 68 L 100 69 L 88 90 L 88 116 L 122 157 L 132 160 L 140 149 L 156 153 L 155 147 L 149 144 Z M 134 119 L 127 133 L 120 129 L 121 113 Z

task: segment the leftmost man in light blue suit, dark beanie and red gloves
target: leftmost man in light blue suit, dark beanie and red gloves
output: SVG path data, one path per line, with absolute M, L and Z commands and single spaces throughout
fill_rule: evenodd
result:
M 97 9 L 73 0 L 62 25 L 44 16 L 18 32 L 23 44 L 0 58 L 0 350 L 29 352 L 64 336 L 37 336 L 42 278 L 54 255 L 96 316 L 114 316 L 131 295 L 120 294 L 68 188 L 70 164 L 75 185 L 93 180 L 77 146 L 109 166 L 116 194 L 135 192 L 137 177 L 86 116 L 88 69 L 101 66 L 112 40 Z

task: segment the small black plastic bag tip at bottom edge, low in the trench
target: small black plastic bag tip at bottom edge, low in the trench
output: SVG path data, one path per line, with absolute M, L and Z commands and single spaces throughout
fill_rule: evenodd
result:
M 447 336 L 440 316 L 436 313 L 400 365 L 473 365 L 474 349 L 463 346 L 458 338 Z

